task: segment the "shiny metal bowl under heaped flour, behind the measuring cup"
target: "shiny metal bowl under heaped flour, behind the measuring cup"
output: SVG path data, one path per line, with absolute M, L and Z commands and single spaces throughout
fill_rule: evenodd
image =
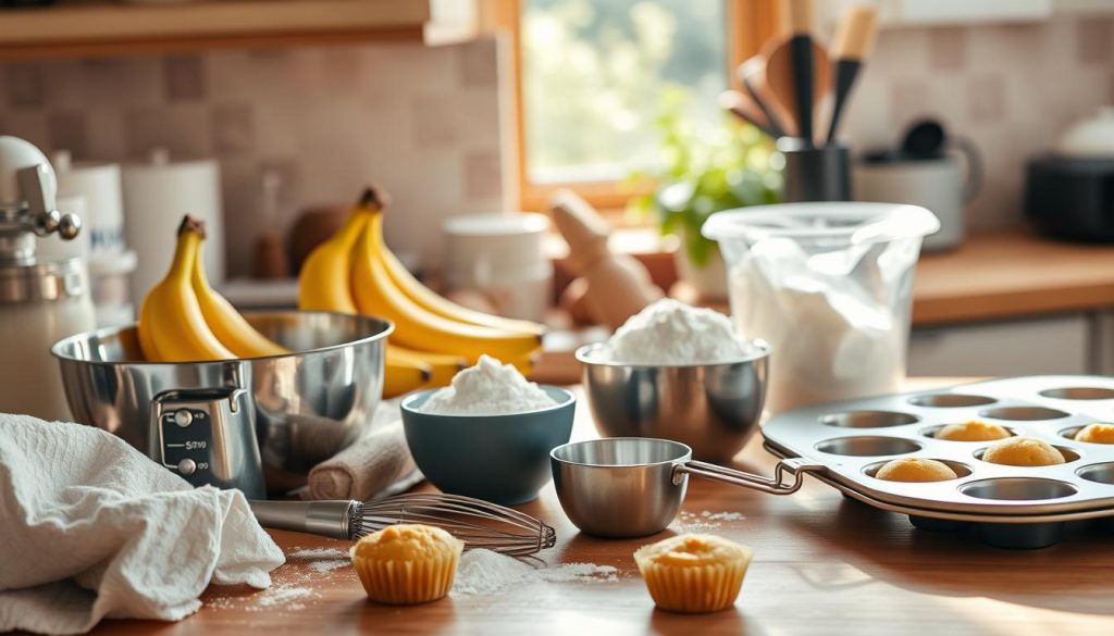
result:
M 682 442 L 697 459 L 727 461 L 758 430 L 765 400 L 770 346 L 720 364 L 646 366 L 609 362 L 603 344 L 576 352 L 592 419 L 604 437 Z

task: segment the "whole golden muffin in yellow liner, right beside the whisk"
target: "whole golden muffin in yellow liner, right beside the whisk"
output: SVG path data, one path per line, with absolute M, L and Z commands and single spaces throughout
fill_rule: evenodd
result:
M 440 528 L 399 524 L 360 539 L 349 555 L 369 598 L 410 605 L 449 594 L 463 549 Z

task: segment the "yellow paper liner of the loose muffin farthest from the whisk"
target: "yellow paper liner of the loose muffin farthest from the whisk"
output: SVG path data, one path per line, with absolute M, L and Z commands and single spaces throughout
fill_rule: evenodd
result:
M 634 560 L 654 604 L 686 614 L 720 611 L 733 606 L 751 565 L 751 556 L 746 555 L 723 564 L 678 567 L 652 562 L 639 552 L 642 549 L 635 551 Z

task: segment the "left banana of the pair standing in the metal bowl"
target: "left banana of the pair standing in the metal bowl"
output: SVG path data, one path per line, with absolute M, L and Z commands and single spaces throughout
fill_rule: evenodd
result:
M 170 271 L 144 299 L 139 342 L 145 355 L 148 354 L 146 348 L 153 345 L 159 362 L 236 358 L 209 330 L 189 282 L 203 234 L 201 222 L 189 216 L 183 218 Z

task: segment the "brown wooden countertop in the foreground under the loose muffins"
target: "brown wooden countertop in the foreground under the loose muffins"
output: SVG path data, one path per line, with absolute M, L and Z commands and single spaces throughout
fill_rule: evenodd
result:
M 915 388 L 940 385 L 940 381 Z M 574 438 L 594 437 L 578 409 Z M 736 458 L 769 473 L 774 459 L 755 438 Z M 349 567 L 320 573 L 291 558 L 276 586 L 305 588 L 286 604 L 267 593 L 212 587 L 205 607 L 179 623 L 106 620 L 96 634 L 1103 634 L 1114 633 L 1114 536 L 1069 531 L 1056 546 L 1015 551 L 961 535 L 915 530 L 901 516 L 844 499 L 807 479 L 778 497 L 693 479 L 687 524 L 704 511 L 739 520 L 710 531 L 750 545 L 755 557 L 733 609 L 685 616 L 655 610 L 631 554 L 664 536 L 603 540 L 579 535 L 546 487 L 522 507 L 557 529 L 549 564 L 590 561 L 619 569 L 614 583 L 543 584 L 491 596 L 447 598 L 414 607 L 369 603 Z M 290 555 L 304 548 L 346 549 L 348 542 L 273 532 Z

